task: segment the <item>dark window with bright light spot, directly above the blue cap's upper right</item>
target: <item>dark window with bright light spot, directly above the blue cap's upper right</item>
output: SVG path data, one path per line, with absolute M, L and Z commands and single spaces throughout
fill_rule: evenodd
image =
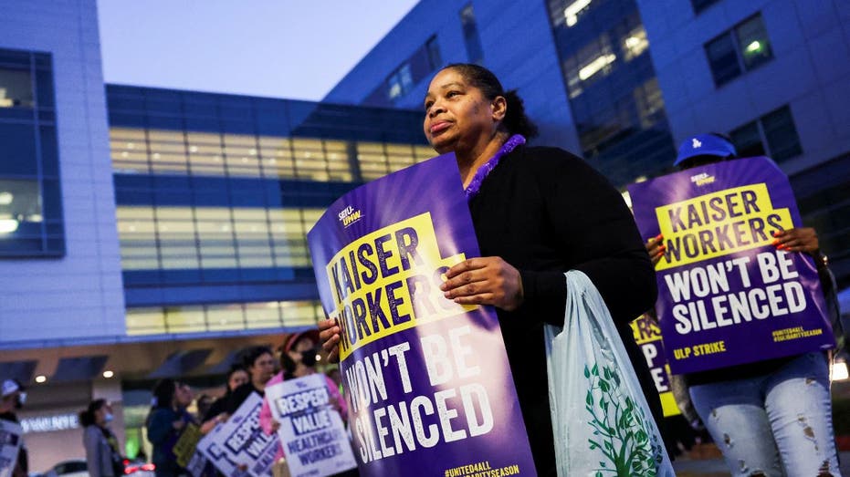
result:
M 773 52 L 761 14 L 751 16 L 705 45 L 714 84 L 721 86 L 744 71 L 771 60 Z

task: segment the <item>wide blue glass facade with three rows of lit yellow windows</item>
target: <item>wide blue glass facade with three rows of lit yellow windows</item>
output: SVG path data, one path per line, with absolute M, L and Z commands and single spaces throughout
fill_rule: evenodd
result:
M 315 323 L 310 227 L 362 181 L 435 156 L 414 111 L 120 86 L 107 99 L 131 335 Z

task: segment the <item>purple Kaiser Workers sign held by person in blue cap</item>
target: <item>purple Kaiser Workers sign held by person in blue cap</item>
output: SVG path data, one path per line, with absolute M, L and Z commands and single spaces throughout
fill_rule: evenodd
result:
M 811 257 L 772 233 L 803 223 L 768 158 L 723 161 L 629 186 L 645 239 L 662 233 L 658 313 L 675 374 L 834 346 Z

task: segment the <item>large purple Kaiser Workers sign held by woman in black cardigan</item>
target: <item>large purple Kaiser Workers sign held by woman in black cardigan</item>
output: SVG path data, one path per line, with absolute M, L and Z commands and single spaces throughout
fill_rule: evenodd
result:
M 341 197 L 308 233 L 361 475 L 535 475 L 495 311 L 443 297 L 479 256 L 453 155 Z

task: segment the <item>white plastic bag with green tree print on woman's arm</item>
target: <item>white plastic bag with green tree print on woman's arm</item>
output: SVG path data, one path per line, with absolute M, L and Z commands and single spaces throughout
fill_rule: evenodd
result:
M 564 326 L 546 326 L 559 477 L 675 475 L 602 296 L 582 272 L 566 276 Z

